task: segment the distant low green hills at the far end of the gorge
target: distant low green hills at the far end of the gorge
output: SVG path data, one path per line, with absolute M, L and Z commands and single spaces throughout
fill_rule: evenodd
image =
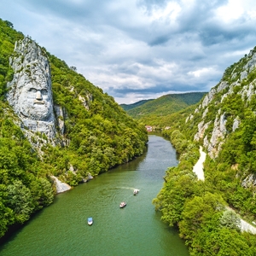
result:
M 169 94 L 154 100 L 140 101 L 131 105 L 121 104 L 120 106 L 140 123 L 164 128 L 169 125 L 169 116 L 172 113 L 194 105 L 205 94 L 206 92 Z

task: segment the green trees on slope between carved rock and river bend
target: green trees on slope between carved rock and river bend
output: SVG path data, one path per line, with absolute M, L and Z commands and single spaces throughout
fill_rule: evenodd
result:
M 53 55 L 49 55 L 49 61 L 54 102 L 67 111 L 65 137 L 70 141 L 65 157 L 60 147 L 49 148 L 46 154 L 47 162 L 58 170 L 56 175 L 67 172 L 70 164 L 83 177 L 88 172 L 97 175 L 143 154 L 148 139 L 143 126 L 131 119 L 113 97 L 103 94 L 64 61 Z M 79 97 L 90 98 L 88 109 Z M 55 158 L 60 159 L 55 162 Z

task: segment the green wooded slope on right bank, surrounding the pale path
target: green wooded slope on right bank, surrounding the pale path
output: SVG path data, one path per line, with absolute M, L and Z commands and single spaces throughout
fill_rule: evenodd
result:
M 173 113 L 168 117 L 171 129 L 163 132 L 177 149 L 179 164 L 166 171 L 154 206 L 167 224 L 178 227 L 190 255 L 256 255 L 256 236 L 241 232 L 240 222 L 240 218 L 249 224 L 256 220 L 255 52 L 256 48 L 226 69 L 212 89 L 207 108 L 202 108 L 202 99 Z M 241 78 L 245 70 L 247 77 Z M 218 134 L 221 116 L 225 133 L 218 137 L 218 154 L 210 157 L 207 143 L 213 133 Z M 236 119 L 239 125 L 235 129 Z M 207 124 L 206 129 L 196 141 L 201 122 Z M 205 181 L 198 180 L 193 172 L 200 145 L 208 153 Z

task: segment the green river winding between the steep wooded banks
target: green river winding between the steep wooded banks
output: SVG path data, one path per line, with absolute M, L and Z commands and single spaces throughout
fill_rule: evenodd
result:
M 0 255 L 189 255 L 177 230 L 164 224 L 152 205 L 167 167 L 176 165 L 172 144 L 150 135 L 143 156 L 56 195 L 0 246 Z M 121 201 L 125 208 L 119 208 Z M 88 217 L 94 219 L 91 226 Z

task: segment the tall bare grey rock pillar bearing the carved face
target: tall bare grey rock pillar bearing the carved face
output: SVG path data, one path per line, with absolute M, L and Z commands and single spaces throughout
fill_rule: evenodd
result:
M 10 58 L 14 79 L 8 84 L 7 100 L 20 117 L 21 128 L 55 138 L 55 115 L 51 91 L 49 61 L 30 38 L 15 44 Z

